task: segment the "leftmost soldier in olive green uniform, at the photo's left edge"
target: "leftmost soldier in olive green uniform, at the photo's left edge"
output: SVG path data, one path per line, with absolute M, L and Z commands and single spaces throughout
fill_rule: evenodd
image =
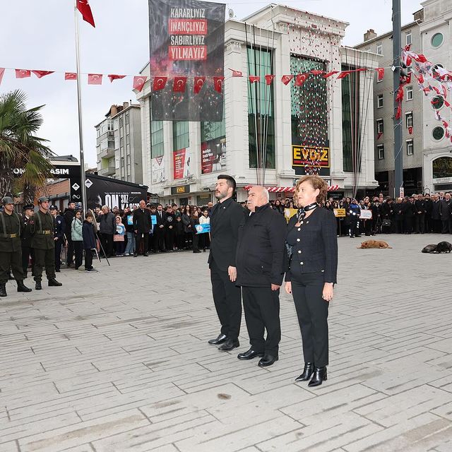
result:
M 14 200 L 5 196 L 1 203 L 4 212 L 0 212 L 0 297 L 6 297 L 6 283 L 9 269 L 12 268 L 17 281 L 18 292 L 30 292 L 23 284 L 22 246 L 20 233 L 23 230 L 22 218 L 14 212 Z

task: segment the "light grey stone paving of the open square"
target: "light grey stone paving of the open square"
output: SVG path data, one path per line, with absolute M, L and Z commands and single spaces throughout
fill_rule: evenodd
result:
M 0 299 L 1 452 L 452 451 L 452 255 L 439 234 L 339 239 L 328 381 L 295 383 L 302 347 L 281 296 L 280 360 L 218 334 L 207 254 L 63 269 L 63 287 Z M 362 239 L 364 240 L 364 238 Z M 28 279 L 30 284 L 30 278 Z

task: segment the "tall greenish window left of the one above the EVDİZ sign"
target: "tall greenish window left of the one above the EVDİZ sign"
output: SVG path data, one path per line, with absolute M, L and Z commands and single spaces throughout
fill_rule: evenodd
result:
M 248 85 L 248 151 L 250 168 L 275 168 L 275 114 L 273 85 L 265 75 L 273 73 L 272 52 L 246 49 L 248 73 L 261 80 Z

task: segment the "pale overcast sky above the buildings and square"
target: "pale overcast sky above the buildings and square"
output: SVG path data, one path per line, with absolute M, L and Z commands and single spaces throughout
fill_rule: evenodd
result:
M 391 0 L 305 0 L 281 2 L 293 8 L 320 13 L 350 25 L 343 44 L 362 42 L 368 28 L 381 34 L 391 30 Z M 266 1 L 237 0 L 227 4 L 237 19 L 266 6 Z M 41 79 L 16 79 L 6 69 L 0 93 L 20 88 L 28 107 L 45 105 L 39 135 L 49 140 L 58 155 L 79 155 L 76 82 L 64 81 L 64 71 L 76 70 L 74 0 L 1 1 L 0 67 L 61 71 Z M 138 75 L 148 60 L 148 0 L 90 0 L 96 28 L 80 21 L 81 71 Z M 402 25 L 412 20 L 420 2 L 402 0 Z M 136 102 L 132 78 L 101 86 L 87 85 L 83 76 L 83 142 L 85 162 L 96 165 L 95 124 L 110 105 Z

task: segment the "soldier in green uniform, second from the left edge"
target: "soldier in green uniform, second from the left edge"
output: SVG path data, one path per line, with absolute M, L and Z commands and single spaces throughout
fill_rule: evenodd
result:
M 54 218 L 49 213 L 49 198 L 41 196 L 37 203 L 40 206 L 35 215 L 28 221 L 28 228 L 32 236 L 31 246 L 35 250 L 35 289 L 42 290 L 42 269 L 45 267 L 49 286 L 62 285 L 55 279 L 55 242 Z

